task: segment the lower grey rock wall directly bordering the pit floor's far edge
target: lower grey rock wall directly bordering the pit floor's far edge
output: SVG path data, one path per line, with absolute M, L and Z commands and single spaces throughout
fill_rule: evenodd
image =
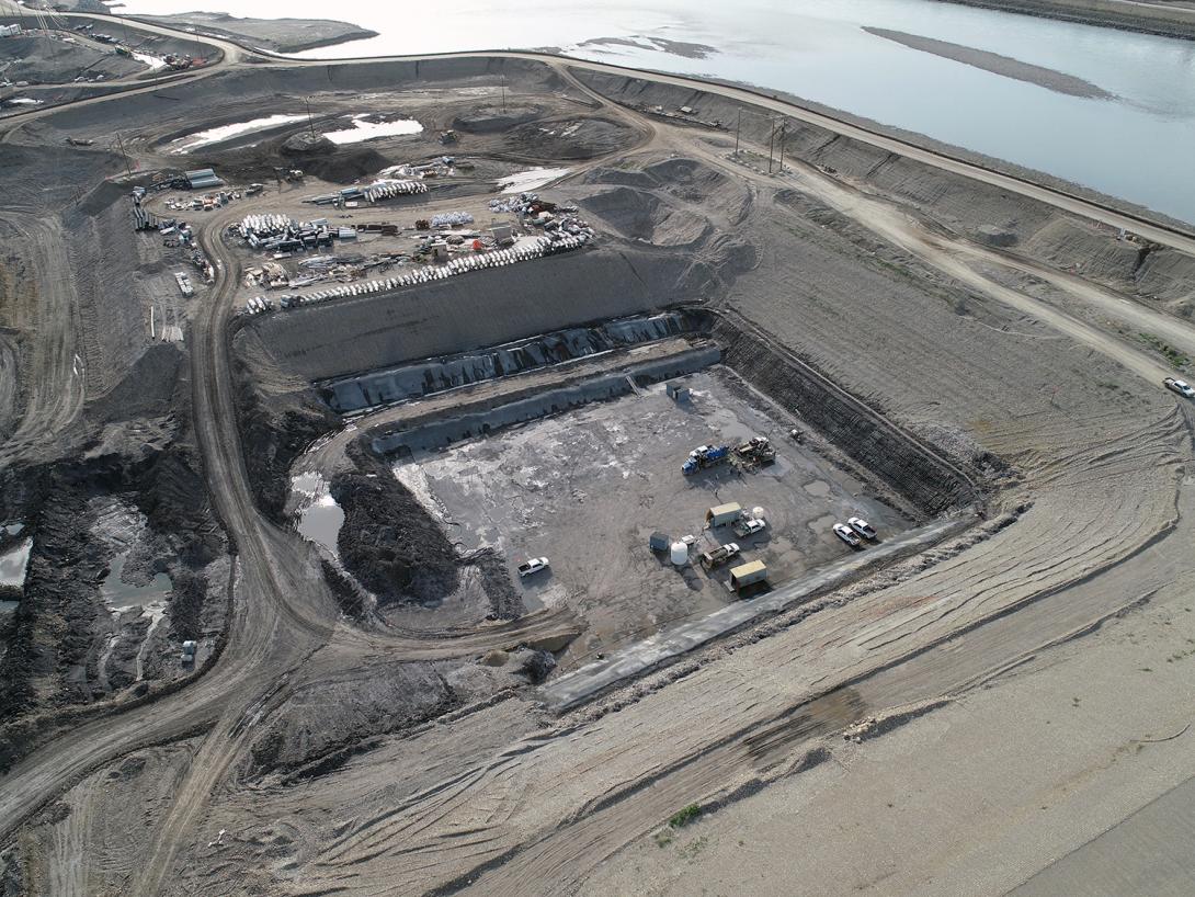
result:
M 374 435 L 372 446 L 379 454 L 403 454 L 427 448 L 440 448 L 461 439 L 488 435 L 495 429 L 513 423 L 558 414 L 589 402 L 625 396 L 638 384 L 658 383 L 672 377 L 693 373 L 710 365 L 716 365 L 721 356 L 722 353 L 717 346 L 706 343 L 668 359 L 633 365 L 617 373 L 594 377 L 559 389 L 545 390 L 513 402 L 480 403 L 448 416 L 429 415 L 427 420 L 415 421 L 402 429 L 380 432 Z

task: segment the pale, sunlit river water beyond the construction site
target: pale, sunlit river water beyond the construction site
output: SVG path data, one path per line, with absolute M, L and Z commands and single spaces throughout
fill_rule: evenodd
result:
M 196 5 L 129 0 L 123 11 Z M 252 14 L 335 17 L 379 32 L 307 57 L 558 48 L 785 91 L 1195 222 L 1195 42 L 933 0 L 514 0 L 501 8 L 479 0 L 429 7 L 259 0 Z M 1093 96 L 865 28 L 1011 57 L 1070 77 L 1058 81 L 1086 83 Z

